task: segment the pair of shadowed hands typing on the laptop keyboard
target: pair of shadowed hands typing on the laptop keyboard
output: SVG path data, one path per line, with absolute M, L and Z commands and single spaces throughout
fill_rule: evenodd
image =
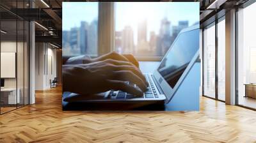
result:
M 63 63 L 63 91 L 94 94 L 114 89 L 143 96 L 148 83 L 138 66 L 132 55 L 116 52 L 94 59 L 70 57 Z

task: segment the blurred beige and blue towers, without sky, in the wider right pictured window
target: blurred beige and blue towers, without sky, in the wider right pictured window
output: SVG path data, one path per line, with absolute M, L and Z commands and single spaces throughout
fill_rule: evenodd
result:
M 177 26 L 172 26 L 172 22 L 164 17 L 160 23 L 159 34 L 155 31 L 148 31 L 147 20 L 138 24 L 137 33 L 134 33 L 131 26 L 125 26 L 122 31 L 115 31 L 115 50 L 120 54 L 163 56 L 179 32 L 189 26 L 189 22 L 180 20 Z M 149 39 L 147 39 L 147 34 L 150 35 Z

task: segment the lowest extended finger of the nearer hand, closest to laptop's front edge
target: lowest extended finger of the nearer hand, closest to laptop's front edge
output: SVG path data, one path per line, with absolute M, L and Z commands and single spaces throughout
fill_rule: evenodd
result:
M 131 86 L 124 81 L 108 80 L 108 82 L 109 89 L 124 91 L 126 93 L 131 93 L 136 96 L 143 96 L 143 92 L 139 88 Z

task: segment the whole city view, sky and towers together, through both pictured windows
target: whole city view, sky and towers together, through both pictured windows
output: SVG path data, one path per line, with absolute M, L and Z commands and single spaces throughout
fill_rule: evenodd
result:
M 64 53 L 97 55 L 98 5 L 63 3 L 63 36 L 68 37 L 63 38 Z M 114 6 L 114 50 L 120 54 L 163 56 L 181 29 L 199 22 L 199 3 L 115 2 Z

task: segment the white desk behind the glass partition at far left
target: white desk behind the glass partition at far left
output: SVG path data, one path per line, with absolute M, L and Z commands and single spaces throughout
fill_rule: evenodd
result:
M 18 91 L 18 92 L 17 92 Z M 17 97 L 16 97 L 17 92 Z M 1 89 L 1 102 L 4 105 L 13 105 L 16 103 L 20 103 L 20 89 L 18 88 L 4 88 Z

